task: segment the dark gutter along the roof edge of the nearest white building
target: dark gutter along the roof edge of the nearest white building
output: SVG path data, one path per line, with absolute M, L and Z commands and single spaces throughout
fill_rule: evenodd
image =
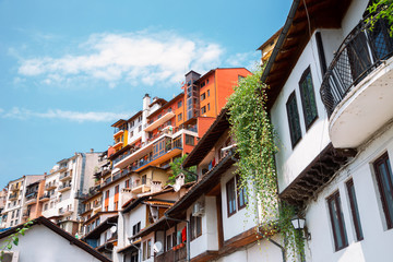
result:
M 270 73 L 270 71 L 271 71 L 271 69 L 273 67 L 274 60 L 275 60 L 279 49 L 282 48 L 282 46 L 284 44 L 284 40 L 286 38 L 286 35 L 288 34 L 288 31 L 289 31 L 289 27 L 290 27 L 293 21 L 294 21 L 295 13 L 296 13 L 296 10 L 299 7 L 299 3 L 300 3 L 300 0 L 294 0 L 293 5 L 290 7 L 288 17 L 287 17 L 287 20 L 285 22 L 285 25 L 283 27 L 282 33 L 278 36 L 277 44 L 275 45 L 275 47 L 273 49 L 273 52 L 272 52 L 272 56 L 270 57 L 270 59 L 267 61 L 266 68 L 264 69 L 264 71 L 262 73 L 262 76 L 261 76 L 261 82 L 262 83 L 264 83 L 266 81 L 267 75 L 269 75 L 269 73 Z

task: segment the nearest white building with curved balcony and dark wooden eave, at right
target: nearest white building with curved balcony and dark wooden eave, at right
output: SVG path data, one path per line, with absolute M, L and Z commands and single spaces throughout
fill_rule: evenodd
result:
M 368 1 L 295 0 L 262 81 L 279 196 L 299 206 L 306 261 L 391 261 L 393 40 Z

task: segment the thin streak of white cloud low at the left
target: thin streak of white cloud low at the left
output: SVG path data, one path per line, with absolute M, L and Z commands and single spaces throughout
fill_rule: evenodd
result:
M 13 107 L 9 111 L 0 108 L 1 118 L 13 118 L 13 119 L 31 119 L 31 118 L 43 118 L 43 119 L 61 119 L 76 122 L 108 122 L 116 121 L 121 118 L 128 118 L 132 114 L 116 114 L 106 111 L 68 111 L 60 109 L 48 109 L 45 112 L 36 112 L 25 108 Z

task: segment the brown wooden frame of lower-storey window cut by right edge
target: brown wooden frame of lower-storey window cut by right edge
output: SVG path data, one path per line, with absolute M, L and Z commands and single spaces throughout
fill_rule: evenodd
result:
M 383 213 L 384 213 L 384 216 L 385 216 L 385 221 L 386 221 L 386 227 L 388 229 L 391 229 L 393 228 L 393 222 L 392 222 L 392 218 L 390 216 L 390 213 L 389 213 L 389 210 L 388 210 L 388 201 L 385 199 L 385 190 L 382 186 L 382 174 L 380 174 L 379 171 L 379 166 L 381 164 L 388 164 L 389 163 L 389 155 L 388 155 L 388 152 L 384 153 L 382 156 L 380 156 L 374 163 L 373 163 L 373 167 L 374 167 L 374 171 L 376 171 L 376 177 L 377 177 L 377 183 L 378 183 L 378 188 L 379 188 L 379 193 L 380 193 L 380 199 L 381 199 L 381 202 L 382 202 L 382 209 L 383 209 Z M 390 163 L 389 163 L 390 164 Z M 388 169 L 389 171 L 389 169 Z M 391 175 L 391 174 L 390 174 Z M 388 182 L 389 182 L 389 186 L 393 189 L 393 182 L 392 182 L 392 179 L 391 179 L 391 176 L 388 176 Z

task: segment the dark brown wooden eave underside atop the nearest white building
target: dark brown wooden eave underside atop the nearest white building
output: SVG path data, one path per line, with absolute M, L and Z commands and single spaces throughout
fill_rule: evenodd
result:
M 267 71 L 262 75 L 262 81 L 270 86 L 267 109 L 273 106 L 313 32 L 318 28 L 341 28 L 341 22 L 350 2 L 352 0 L 294 1 L 294 4 L 298 3 L 295 15 L 284 25 L 267 62 Z

